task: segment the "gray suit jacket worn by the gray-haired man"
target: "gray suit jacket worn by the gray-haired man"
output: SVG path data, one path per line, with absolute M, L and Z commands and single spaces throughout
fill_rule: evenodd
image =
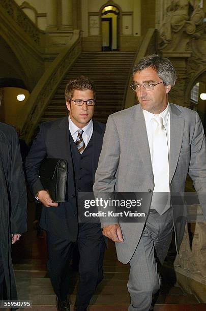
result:
M 198 114 L 170 104 L 169 177 L 176 249 L 184 235 L 187 208 L 173 205 L 173 196 L 184 193 L 187 174 L 193 180 L 206 219 L 206 148 Z M 154 178 L 145 120 L 140 105 L 109 116 L 96 171 L 94 192 L 151 192 Z M 147 206 L 149 210 L 150 204 Z M 113 223 L 118 223 L 115 219 Z M 102 227 L 111 223 L 102 223 Z M 124 242 L 116 243 L 117 256 L 129 262 L 144 223 L 121 223 Z

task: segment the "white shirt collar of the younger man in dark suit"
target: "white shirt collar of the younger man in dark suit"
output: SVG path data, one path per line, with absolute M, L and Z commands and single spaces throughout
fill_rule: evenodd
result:
M 76 141 L 77 135 L 78 135 L 78 130 L 79 128 L 72 122 L 70 116 L 69 116 L 69 131 L 72 135 L 72 138 L 74 140 L 74 142 Z M 90 120 L 90 122 L 81 130 L 83 130 L 82 133 L 82 138 L 83 141 L 85 143 L 85 147 L 87 146 L 87 144 L 89 144 L 89 141 L 92 137 L 93 134 L 93 121 L 92 119 Z

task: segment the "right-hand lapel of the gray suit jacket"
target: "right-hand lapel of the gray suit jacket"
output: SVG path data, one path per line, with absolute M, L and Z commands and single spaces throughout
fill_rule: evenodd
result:
M 184 133 L 184 119 L 181 111 L 170 104 L 170 151 L 169 151 L 169 180 L 171 182 L 181 151 Z

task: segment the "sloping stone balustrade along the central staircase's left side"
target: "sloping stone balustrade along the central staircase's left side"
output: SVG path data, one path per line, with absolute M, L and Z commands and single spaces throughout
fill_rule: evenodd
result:
M 81 53 L 81 32 L 74 30 L 67 47 L 54 59 L 40 78 L 17 120 L 22 137 L 30 142 L 42 114 L 53 97 L 58 85 Z

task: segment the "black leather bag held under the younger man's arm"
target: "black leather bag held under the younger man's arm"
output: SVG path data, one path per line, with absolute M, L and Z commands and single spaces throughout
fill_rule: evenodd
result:
M 47 158 L 40 165 L 41 183 L 53 202 L 66 201 L 67 173 L 67 161 L 63 159 Z

